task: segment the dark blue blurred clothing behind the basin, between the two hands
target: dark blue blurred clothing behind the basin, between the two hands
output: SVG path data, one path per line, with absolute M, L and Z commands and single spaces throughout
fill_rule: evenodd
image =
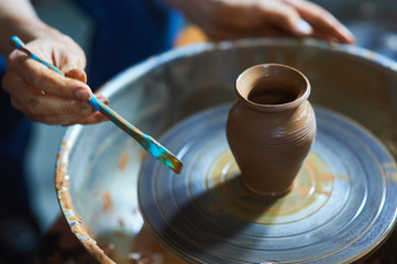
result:
M 74 0 L 95 23 L 87 65 L 98 88 L 115 74 L 172 47 L 181 16 L 162 0 Z

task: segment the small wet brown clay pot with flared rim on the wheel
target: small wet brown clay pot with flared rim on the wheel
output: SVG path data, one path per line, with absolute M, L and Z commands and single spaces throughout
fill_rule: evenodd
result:
M 227 136 L 243 185 L 258 195 L 284 195 L 316 136 L 310 84 L 289 66 L 263 64 L 244 70 L 235 91 Z

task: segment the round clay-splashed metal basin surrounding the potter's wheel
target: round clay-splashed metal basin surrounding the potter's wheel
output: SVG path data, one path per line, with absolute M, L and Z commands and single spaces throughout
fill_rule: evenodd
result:
M 397 64 L 354 46 L 289 38 L 196 44 L 126 69 L 102 94 L 132 124 L 158 138 L 200 110 L 233 101 L 238 75 L 263 63 L 302 72 L 312 105 L 360 123 L 397 160 Z M 110 122 L 75 125 L 64 136 L 55 176 L 59 205 L 71 232 L 102 263 L 128 261 L 136 246 L 143 224 L 136 180 L 145 155 Z M 394 172 L 388 177 L 397 184 Z

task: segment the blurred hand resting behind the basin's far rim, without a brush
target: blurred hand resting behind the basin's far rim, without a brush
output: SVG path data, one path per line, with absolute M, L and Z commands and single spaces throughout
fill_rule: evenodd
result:
M 354 36 L 332 14 L 306 0 L 165 0 L 211 40 L 312 36 L 352 44 Z

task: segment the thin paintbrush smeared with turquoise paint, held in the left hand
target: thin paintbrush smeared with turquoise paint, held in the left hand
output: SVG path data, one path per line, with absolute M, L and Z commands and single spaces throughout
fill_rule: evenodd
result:
M 45 62 L 44 59 L 40 58 L 32 52 L 30 52 L 25 44 L 18 37 L 12 36 L 11 37 L 11 45 L 15 47 L 16 50 L 25 53 L 34 61 L 44 64 L 49 69 L 65 76 L 63 72 L 60 72 L 57 67 L 54 65 Z M 135 139 L 141 146 L 146 150 L 150 154 L 152 154 L 154 157 L 156 157 L 158 161 L 161 161 L 164 165 L 173 169 L 175 173 L 180 174 L 180 170 L 183 168 L 183 162 L 180 162 L 173 153 L 170 153 L 167 148 L 165 148 L 163 145 L 161 145 L 152 136 L 144 134 L 139 129 L 136 129 L 134 125 L 129 123 L 125 119 L 123 119 L 120 114 L 114 112 L 111 108 L 109 108 L 107 105 L 104 105 L 102 101 L 98 100 L 98 98 L 91 94 L 91 98 L 89 99 L 89 103 L 99 112 L 101 112 L 103 116 L 106 116 L 110 121 L 112 121 L 115 125 L 118 125 L 120 129 L 122 129 L 125 133 L 131 135 L 133 139 Z

